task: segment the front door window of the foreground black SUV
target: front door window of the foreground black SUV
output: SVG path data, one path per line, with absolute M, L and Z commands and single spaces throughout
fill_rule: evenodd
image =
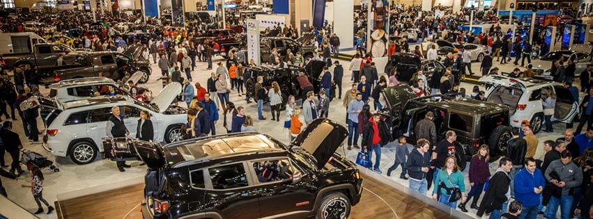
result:
M 253 163 L 253 170 L 261 184 L 292 179 L 293 176 L 293 168 L 288 159 L 256 161 Z

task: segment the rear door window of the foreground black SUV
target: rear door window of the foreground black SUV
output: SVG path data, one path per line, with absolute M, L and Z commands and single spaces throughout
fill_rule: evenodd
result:
M 245 175 L 245 168 L 242 163 L 233 163 L 230 165 L 208 168 L 208 173 L 210 173 L 210 180 L 212 181 L 212 188 L 214 189 L 249 186 L 247 175 Z

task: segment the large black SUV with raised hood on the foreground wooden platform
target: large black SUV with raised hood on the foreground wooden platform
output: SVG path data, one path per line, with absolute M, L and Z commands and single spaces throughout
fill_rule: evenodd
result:
M 360 201 L 362 179 L 355 163 L 335 153 L 347 133 L 340 124 L 317 119 L 288 146 L 261 133 L 208 136 L 164 147 L 132 140 L 130 151 L 148 166 L 142 214 L 348 218 Z

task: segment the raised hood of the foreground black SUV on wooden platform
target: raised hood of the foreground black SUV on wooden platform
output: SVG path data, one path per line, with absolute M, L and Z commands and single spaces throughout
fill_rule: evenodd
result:
M 336 149 L 348 136 L 348 130 L 332 120 L 318 118 L 305 128 L 293 141 L 291 147 L 300 147 L 316 159 L 316 167 L 321 170 L 330 161 Z

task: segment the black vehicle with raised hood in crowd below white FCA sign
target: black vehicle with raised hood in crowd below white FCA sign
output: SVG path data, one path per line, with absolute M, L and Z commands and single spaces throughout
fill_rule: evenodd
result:
M 254 95 L 257 76 L 263 77 L 263 86 L 266 88 L 270 88 L 272 82 L 276 81 L 282 91 L 282 107 L 284 107 L 284 104 L 288 101 L 288 95 L 293 95 L 295 99 L 302 97 L 299 83 L 296 80 L 299 72 L 305 72 L 305 75 L 309 77 L 309 81 L 313 84 L 314 92 L 319 92 L 321 89 L 319 76 L 321 76 L 325 65 L 323 61 L 310 60 L 305 67 L 296 65 L 287 65 L 286 67 L 275 67 L 272 65 L 242 67 L 246 72 L 251 72 L 252 76 L 247 79 L 245 89 L 247 89 L 247 93 Z

